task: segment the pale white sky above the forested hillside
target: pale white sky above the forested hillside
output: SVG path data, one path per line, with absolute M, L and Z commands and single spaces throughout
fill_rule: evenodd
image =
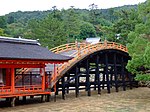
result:
M 145 1 L 146 0 L 0 0 L 0 15 L 16 11 L 50 10 L 53 6 L 57 6 L 58 9 L 68 9 L 70 6 L 88 9 L 92 3 L 98 5 L 99 9 L 106 9 L 138 4 Z

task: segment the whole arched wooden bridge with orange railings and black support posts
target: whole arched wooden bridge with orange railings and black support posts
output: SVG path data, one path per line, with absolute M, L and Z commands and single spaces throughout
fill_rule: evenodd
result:
M 91 88 L 101 93 L 107 88 L 108 93 L 114 87 L 132 88 L 133 76 L 127 71 L 126 65 L 130 56 L 125 46 L 115 42 L 99 42 L 97 44 L 70 43 L 51 49 L 52 52 L 73 57 L 64 64 L 55 65 L 52 72 L 50 87 L 56 95 L 62 92 L 62 98 L 69 90 L 85 89 L 88 96 Z

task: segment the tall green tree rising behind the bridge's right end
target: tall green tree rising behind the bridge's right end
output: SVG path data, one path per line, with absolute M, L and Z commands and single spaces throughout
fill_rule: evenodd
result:
M 139 23 L 138 13 L 135 9 L 120 10 L 118 12 L 119 20 L 113 25 L 113 32 L 120 34 L 119 43 L 126 45 L 128 43 L 128 34 L 134 31 L 135 26 Z

